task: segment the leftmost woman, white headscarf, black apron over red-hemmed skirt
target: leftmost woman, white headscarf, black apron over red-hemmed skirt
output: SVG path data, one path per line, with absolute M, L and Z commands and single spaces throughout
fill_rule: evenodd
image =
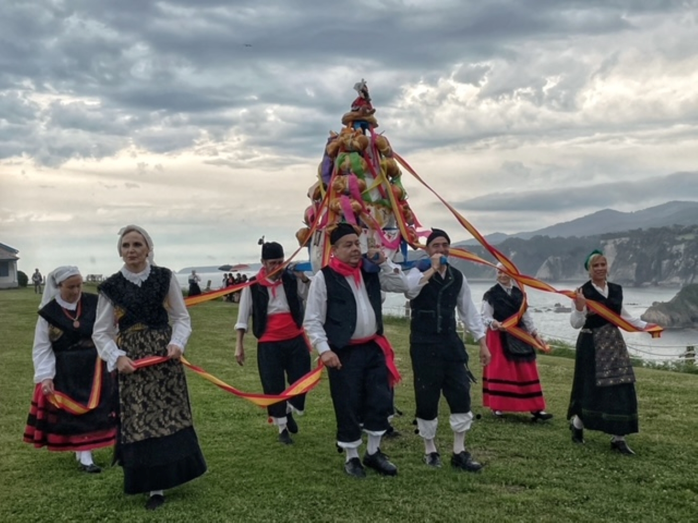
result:
M 24 441 L 75 451 L 80 468 L 101 472 L 92 450 L 114 444 L 114 385 L 92 342 L 97 296 L 82 292 L 75 266 L 46 278 L 34 331 L 34 397 Z

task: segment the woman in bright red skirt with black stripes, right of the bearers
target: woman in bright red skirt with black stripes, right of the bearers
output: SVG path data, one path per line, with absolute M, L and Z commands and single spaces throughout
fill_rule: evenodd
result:
M 507 332 L 505 320 L 515 317 L 526 301 L 526 296 L 510 275 L 497 264 L 497 285 L 482 297 L 482 322 L 487 329 L 487 347 L 492 354 L 489 365 L 482 367 L 482 404 L 495 416 L 503 412 L 530 412 L 533 421 L 553 417 L 545 411 L 543 389 L 540 386 L 535 348 L 528 342 Z M 533 318 L 525 310 L 519 319 L 519 328 L 530 334 L 540 346 L 540 338 Z

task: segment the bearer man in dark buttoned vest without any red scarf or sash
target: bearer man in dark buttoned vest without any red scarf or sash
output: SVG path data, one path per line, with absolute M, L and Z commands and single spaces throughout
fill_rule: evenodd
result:
M 480 361 L 487 365 L 489 349 L 484 326 L 470 296 L 463 273 L 447 263 L 451 238 L 441 229 L 432 229 L 426 238 L 426 254 L 431 264 L 425 271 L 413 268 L 407 273 L 410 290 L 410 358 L 415 378 L 417 427 L 424 439 L 424 462 L 441 467 L 436 450 L 438 402 L 443 393 L 451 409 L 454 433 L 452 467 L 479 471 L 482 465 L 466 451 L 466 431 L 470 429 L 470 380 L 468 353 L 456 332 L 456 310 L 463 324 L 480 344 Z

